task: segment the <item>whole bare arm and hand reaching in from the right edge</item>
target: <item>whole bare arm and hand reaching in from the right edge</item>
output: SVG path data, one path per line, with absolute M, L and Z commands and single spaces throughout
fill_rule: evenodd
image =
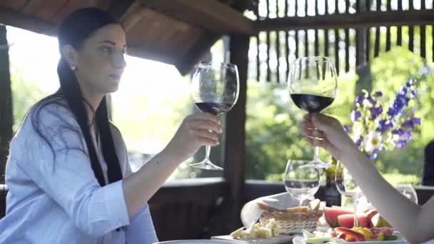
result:
M 318 128 L 318 131 L 311 128 Z M 313 146 L 325 148 L 345 164 L 368 200 L 410 243 L 422 243 L 434 238 L 434 200 L 420 206 L 395 190 L 380 175 L 373 162 L 358 151 L 339 121 L 324 115 L 305 116 L 303 134 L 309 137 Z

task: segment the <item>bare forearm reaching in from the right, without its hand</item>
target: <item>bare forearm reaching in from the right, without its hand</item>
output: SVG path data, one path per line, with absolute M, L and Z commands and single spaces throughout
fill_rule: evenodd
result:
M 397 228 L 410 243 L 422 243 L 434 238 L 434 201 L 420 206 L 390 185 L 363 153 L 358 150 L 343 153 L 341 161 L 363 189 L 378 212 Z

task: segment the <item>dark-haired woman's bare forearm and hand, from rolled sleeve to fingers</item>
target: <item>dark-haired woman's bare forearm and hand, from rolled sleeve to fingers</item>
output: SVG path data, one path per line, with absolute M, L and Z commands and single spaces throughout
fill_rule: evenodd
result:
M 193 156 L 201 146 L 215 146 L 217 133 L 221 133 L 217 116 L 209 113 L 188 116 L 161 153 L 124 178 L 123 195 L 130 218 L 156 193 L 179 163 Z

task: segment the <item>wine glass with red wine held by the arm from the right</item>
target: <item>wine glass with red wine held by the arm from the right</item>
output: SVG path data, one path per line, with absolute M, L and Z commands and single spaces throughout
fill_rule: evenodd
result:
M 288 91 L 296 106 L 308 113 L 321 113 L 335 100 L 338 81 L 335 66 L 328 57 L 313 56 L 296 59 L 291 64 L 288 75 Z M 312 128 L 315 130 L 315 128 Z M 314 140 L 322 138 L 313 137 Z M 311 162 L 318 168 L 329 168 L 331 163 L 324 163 L 315 147 L 315 156 Z

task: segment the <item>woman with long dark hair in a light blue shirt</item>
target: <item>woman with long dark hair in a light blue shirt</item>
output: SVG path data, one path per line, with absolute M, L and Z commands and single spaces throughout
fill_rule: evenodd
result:
M 166 148 L 131 173 L 105 97 L 126 66 L 123 27 L 104 11 L 79 9 L 57 34 L 61 86 L 11 141 L 0 243 L 154 243 L 146 202 L 179 163 L 218 143 L 220 122 L 187 116 Z

